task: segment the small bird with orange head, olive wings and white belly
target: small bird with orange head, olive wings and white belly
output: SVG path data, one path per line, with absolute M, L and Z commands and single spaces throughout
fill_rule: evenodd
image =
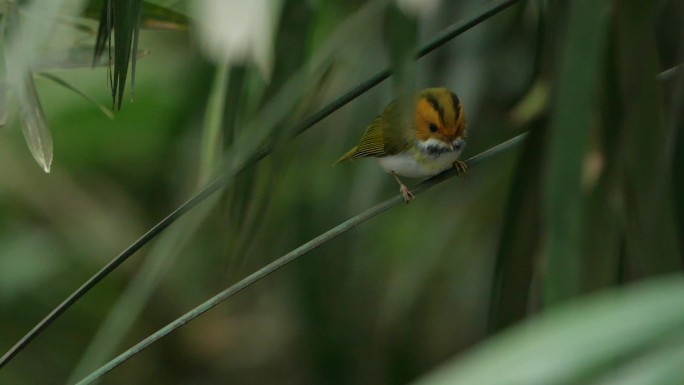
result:
M 458 96 L 447 88 L 426 88 L 385 107 L 368 125 L 359 144 L 335 164 L 360 157 L 378 158 L 397 180 L 408 203 L 415 196 L 399 176 L 428 177 L 451 167 L 459 176 L 465 175 L 468 167 L 458 160 L 465 139 L 466 120 Z

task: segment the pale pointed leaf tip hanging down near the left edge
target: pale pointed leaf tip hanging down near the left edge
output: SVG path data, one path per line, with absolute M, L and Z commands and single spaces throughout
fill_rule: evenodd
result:
M 52 134 L 45 120 L 43 106 L 40 104 L 36 85 L 31 75 L 26 76 L 25 84 L 17 90 L 21 131 L 29 146 L 31 155 L 45 172 L 50 172 L 52 164 Z

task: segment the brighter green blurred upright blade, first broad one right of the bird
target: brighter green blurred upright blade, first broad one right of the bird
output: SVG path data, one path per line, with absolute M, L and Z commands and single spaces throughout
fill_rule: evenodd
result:
M 576 0 L 558 67 L 545 172 L 544 297 L 551 305 L 581 283 L 582 164 L 598 101 L 610 0 Z

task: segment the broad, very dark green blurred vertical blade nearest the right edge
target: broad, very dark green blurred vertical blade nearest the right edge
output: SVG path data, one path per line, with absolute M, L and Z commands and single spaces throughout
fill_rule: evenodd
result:
M 618 73 L 625 135 L 626 255 L 636 276 L 681 268 L 663 124 L 653 2 L 617 2 Z

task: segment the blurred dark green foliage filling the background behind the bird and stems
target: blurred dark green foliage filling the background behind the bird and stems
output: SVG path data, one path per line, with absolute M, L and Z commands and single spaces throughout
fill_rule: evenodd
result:
M 27 3 L 0 1 L 0 11 Z M 38 53 L 91 49 L 101 3 L 62 15 Z M 110 105 L 105 67 L 40 68 L 64 81 L 35 79 L 54 142 L 49 174 L 12 111 L 0 127 L 0 353 L 195 192 L 201 168 L 231 170 L 266 143 L 275 151 L 98 284 L 0 369 L 0 383 L 77 381 L 395 195 L 372 160 L 331 164 L 407 84 L 459 94 L 466 157 L 530 136 L 322 245 L 102 383 L 395 384 L 453 356 L 426 383 L 608 384 L 635 371 L 634 384 L 681 383 L 681 278 L 623 288 L 684 263 L 684 71 L 657 79 L 682 62 L 680 1 L 520 1 L 411 63 L 416 46 L 482 2 L 442 1 L 416 17 L 393 2 L 283 0 L 270 79 L 250 64 L 216 76 L 221 65 L 186 28 L 192 3 L 143 5 L 156 18 L 140 32 L 149 54 L 135 101 L 124 97 L 114 119 L 64 86 Z M 398 80 L 291 139 L 297 122 L 388 65 Z M 211 97 L 223 105 L 208 107 Z M 216 149 L 223 157 L 207 153 Z M 604 349 L 592 349 L 596 336 Z M 548 377 L 525 377 L 530 368 Z

